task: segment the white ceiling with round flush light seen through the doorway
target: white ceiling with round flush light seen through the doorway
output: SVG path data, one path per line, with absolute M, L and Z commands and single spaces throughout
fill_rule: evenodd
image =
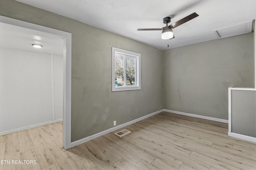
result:
M 32 44 L 40 44 L 38 49 Z M 36 31 L 16 25 L 0 23 L 0 47 L 63 55 L 64 40 L 58 35 Z

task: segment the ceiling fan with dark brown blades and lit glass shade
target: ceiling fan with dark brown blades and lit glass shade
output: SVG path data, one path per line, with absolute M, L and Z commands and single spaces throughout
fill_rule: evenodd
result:
M 190 14 L 188 16 L 186 16 L 185 18 L 182 18 L 181 20 L 178 20 L 174 23 L 172 23 L 171 25 L 168 26 L 168 23 L 171 22 L 171 18 L 170 17 L 165 17 L 163 19 L 163 22 L 166 23 L 166 27 L 162 27 L 162 28 L 139 28 L 137 29 L 137 31 L 154 31 L 154 30 L 162 30 L 162 39 L 173 39 L 175 38 L 173 35 L 173 28 L 178 27 L 179 25 L 192 20 L 193 18 L 198 17 L 199 15 L 196 14 L 196 12 L 194 12 L 193 14 Z

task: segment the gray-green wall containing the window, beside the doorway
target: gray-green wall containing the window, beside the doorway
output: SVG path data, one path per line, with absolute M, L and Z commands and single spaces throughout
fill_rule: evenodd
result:
M 14 0 L 0 15 L 72 33 L 72 141 L 163 109 L 163 52 Z M 111 47 L 141 54 L 141 90 L 111 91 Z

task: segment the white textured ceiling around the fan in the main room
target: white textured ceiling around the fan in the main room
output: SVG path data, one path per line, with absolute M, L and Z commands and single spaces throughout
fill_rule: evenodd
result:
M 256 0 L 17 0 L 158 49 L 217 39 L 213 30 L 254 20 Z M 162 19 L 174 23 L 193 12 L 199 16 L 173 29 L 175 38 L 161 39 Z M 167 48 L 166 45 L 169 45 Z

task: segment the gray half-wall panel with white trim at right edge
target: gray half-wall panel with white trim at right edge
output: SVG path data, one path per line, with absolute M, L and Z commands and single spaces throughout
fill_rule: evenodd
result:
M 256 91 L 231 90 L 231 132 L 256 137 Z

